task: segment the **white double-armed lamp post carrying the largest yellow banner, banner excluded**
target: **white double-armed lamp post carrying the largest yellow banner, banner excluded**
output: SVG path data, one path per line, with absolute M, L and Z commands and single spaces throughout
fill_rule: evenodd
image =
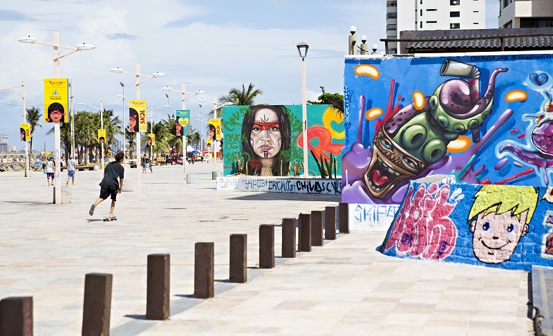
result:
M 17 41 L 20 41 L 21 43 L 42 44 L 44 46 L 53 47 L 54 48 L 53 61 L 54 61 L 54 77 L 55 78 L 59 78 L 59 59 L 60 58 L 66 57 L 67 55 L 71 55 L 73 53 L 77 53 L 77 51 L 92 50 L 92 49 L 96 48 L 95 46 L 93 46 L 91 44 L 84 44 L 84 43 L 77 45 L 76 48 L 68 47 L 68 46 L 61 46 L 59 44 L 59 31 L 58 30 L 54 30 L 54 43 L 53 44 L 37 41 L 37 39 L 35 39 L 35 37 L 30 37 L 30 36 L 23 37 L 21 39 L 18 39 Z M 71 51 L 68 51 L 67 53 L 65 53 L 63 55 L 59 55 L 59 48 L 68 49 L 68 50 L 71 50 Z M 62 204 L 62 183 L 61 183 L 60 178 L 59 178 L 59 172 L 61 171 L 61 169 L 60 169 L 61 167 L 59 165 L 59 161 L 60 161 L 59 142 L 60 142 L 59 122 L 55 122 L 54 123 L 54 149 L 55 149 L 55 153 L 56 153 L 56 171 L 55 171 L 55 186 L 54 186 L 54 188 L 55 188 L 54 189 L 55 204 Z

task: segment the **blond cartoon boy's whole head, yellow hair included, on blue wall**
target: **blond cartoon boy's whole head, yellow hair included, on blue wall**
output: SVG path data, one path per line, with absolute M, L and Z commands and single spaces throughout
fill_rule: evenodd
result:
M 474 195 L 469 212 L 472 250 L 482 263 L 501 263 L 511 258 L 538 203 L 534 187 L 483 185 Z

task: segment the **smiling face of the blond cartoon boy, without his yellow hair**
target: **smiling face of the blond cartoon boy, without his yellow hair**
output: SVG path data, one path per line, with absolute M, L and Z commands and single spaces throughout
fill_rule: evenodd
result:
M 480 212 L 474 221 L 471 221 L 470 230 L 472 237 L 472 250 L 474 255 L 482 263 L 501 263 L 511 258 L 511 255 L 521 240 L 528 232 L 525 211 L 517 216 L 511 216 L 511 212 L 496 214 L 491 212 L 484 215 Z

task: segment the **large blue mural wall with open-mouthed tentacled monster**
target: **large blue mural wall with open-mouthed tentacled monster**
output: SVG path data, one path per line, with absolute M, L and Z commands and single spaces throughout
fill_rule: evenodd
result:
M 553 185 L 552 55 L 346 59 L 342 200 L 398 204 L 409 181 Z

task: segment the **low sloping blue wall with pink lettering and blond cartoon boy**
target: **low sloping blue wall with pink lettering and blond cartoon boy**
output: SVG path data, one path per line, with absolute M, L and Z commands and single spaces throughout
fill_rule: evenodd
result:
M 553 188 L 411 183 L 382 252 L 529 271 L 553 265 Z

